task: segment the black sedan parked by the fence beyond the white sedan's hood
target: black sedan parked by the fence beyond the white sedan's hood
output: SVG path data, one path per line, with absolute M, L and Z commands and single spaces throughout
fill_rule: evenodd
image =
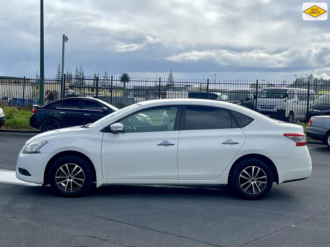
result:
M 33 105 L 30 125 L 44 132 L 93 123 L 116 110 L 113 105 L 94 98 L 59 99 L 44 106 Z

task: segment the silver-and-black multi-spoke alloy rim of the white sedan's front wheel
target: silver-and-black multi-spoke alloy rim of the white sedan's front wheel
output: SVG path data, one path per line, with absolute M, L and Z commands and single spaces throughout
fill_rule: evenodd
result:
M 66 192 L 74 192 L 81 188 L 85 180 L 82 168 L 76 164 L 61 166 L 55 176 L 57 186 Z

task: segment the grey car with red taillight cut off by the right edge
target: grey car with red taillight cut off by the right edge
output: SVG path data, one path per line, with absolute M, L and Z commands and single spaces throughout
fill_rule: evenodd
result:
M 330 116 L 312 117 L 308 122 L 306 135 L 323 142 L 330 148 Z

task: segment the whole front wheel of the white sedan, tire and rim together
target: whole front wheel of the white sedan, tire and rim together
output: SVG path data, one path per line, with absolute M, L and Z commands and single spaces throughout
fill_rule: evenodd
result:
M 82 170 L 81 172 L 79 172 L 80 169 Z M 67 172 L 68 170 L 69 172 Z M 65 177 L 63 176 L 64 172 L 66 173 Z M 90 164 L 76 155 L 67 155 L 59 158 L 51 166 L 48 175 L 49 185 L 52 190 L 64 197 L 78 197 L 85 194 L 91 187 L 92 178 Z

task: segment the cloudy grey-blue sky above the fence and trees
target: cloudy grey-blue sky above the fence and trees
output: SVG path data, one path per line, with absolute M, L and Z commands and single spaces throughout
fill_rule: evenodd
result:
M 1 3 L 2 2 L 2 3 Z M 0 0 L 0 75 L 39 68 L 40 1 Z M 302 20 L 295 0 L 44 0 L 45 76 L 292 80 L 330 78 L 330 20 Z M 328 5 L 330 2 L 328 2 Z

